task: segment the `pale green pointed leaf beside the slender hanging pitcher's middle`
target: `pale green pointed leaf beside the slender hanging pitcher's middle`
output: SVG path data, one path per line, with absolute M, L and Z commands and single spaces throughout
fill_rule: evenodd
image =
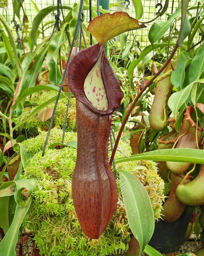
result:
M 171 109 L 175 118 L 177 117 L 178 110 L 184 104 L 184 102 L 187 100 L 192 86 L 193 86 L 193 83 L 190 83 L 184 89 L 182 89 L 181 91 L 178 91 L 176 93 L 173 93 L 169 97 L 168 106 Z

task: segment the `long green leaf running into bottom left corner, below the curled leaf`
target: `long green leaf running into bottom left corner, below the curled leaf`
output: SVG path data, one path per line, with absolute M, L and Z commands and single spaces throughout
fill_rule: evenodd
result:
M 0 252 L 4 256 L 15 256 L 15 246 L 18 241 L 18 230 L 22 224 L 22 221 L 31 205 L 31 198 L 29 198 L 26 207 L 16 206 L 13 222 L 5 234 L 5 237 L 0 243 Z

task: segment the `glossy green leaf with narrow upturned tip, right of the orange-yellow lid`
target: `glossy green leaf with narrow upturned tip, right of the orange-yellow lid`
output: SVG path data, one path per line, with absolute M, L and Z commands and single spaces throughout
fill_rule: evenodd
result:
M 173 20 L 177 18 L 181 13 L 181 7 L 178 7 L 177 10 L 169 15 L 168 19 L 166 21 L 157 20 L 155 21 L 148 33 L 149 42 L 151 44 L 155 43 L 164 33 L 167 32 L 169 27 L 171 26 Z

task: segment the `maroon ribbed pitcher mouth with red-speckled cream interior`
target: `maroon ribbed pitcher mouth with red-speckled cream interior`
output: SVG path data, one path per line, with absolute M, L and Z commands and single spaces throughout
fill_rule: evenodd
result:
M 98 65 L 99 75 L 97 69 L 94 68 L 95 65 Z M 92 80 L 89 78 L 92 71 L 93 76 L 98 76 L 94 80 L 95 85 L 91 84 Z M 114 74 L 101 43 L 80 51 L 71 59 L 67 68 L 67 84 L 78 101 L 100 115 L 113 113 L 120 106 L 124 97 L 120 89 L 120 82 Z M 87 86 L 92 87 L 87 89 Z M 96 91 L 97 88 L 98 91 Z M 102 96 L 99 95 L 100 89 L 103 91 Z M 87 97 L 88 93 L 94 94 L 92 95 L 93 100 L 91 97 Z M 102 98 L 106 98 L 107 104 Z M 101 105 L 97 102 L 100 102 Z

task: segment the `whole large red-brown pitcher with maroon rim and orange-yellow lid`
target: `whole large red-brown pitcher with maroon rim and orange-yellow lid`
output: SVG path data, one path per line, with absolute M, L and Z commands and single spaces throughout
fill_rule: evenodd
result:
M 83 232 L 98 239 L 117 206 L 117 184 L 108 161 L 112 113 L 124 96 L 105 52 L 106 41 L 142 28 L 127 13 L 106 13 L 87 30 L 98 44 L 82 50 L 68 64 L 67 84 L 76 97 L 77 157 L 72 177 L 76 215 Z

